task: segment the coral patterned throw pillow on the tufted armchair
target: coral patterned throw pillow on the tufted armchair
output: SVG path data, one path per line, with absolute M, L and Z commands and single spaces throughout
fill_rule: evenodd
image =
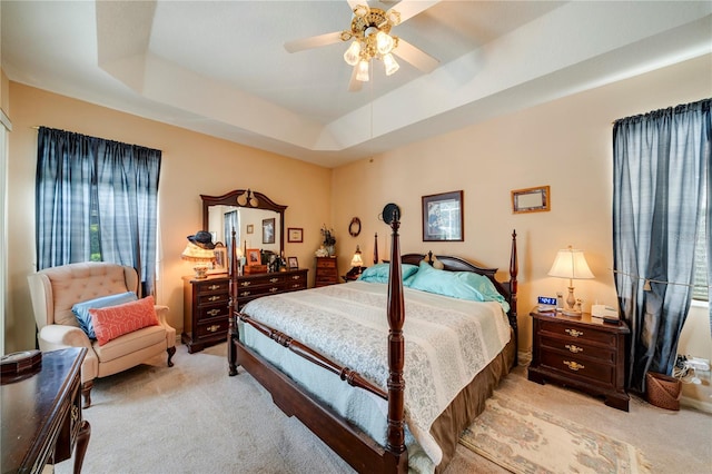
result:
M 147 296 L 118 306 L 89 309 L 99 345 L 103 346 L 111 339 L 142 327 L 157 326 L 158 318 L 154 305 L 154 297 Z

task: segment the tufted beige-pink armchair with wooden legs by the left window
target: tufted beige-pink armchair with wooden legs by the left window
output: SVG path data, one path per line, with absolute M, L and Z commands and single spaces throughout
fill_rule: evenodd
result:
M 72 306 L 108 295 L 126 292 L 138 294 L 139 279 L 131 267 L 108 263 L 69 264 L 46 268 L 28 277 L 41 350 L 87 347 L 81 366 L 81 393 L 85 408 L 91 405 L 93 379 L 106 377 L 161 352 L 168 353 L 172 367 L 176 329 L 166 322 L 167 306 L 156 306 L 158 325 L 144 327 L 99 345 L 80 328 Z

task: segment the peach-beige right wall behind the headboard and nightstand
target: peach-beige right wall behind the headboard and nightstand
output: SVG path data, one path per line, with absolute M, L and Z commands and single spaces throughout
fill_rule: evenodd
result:
M 712 96 L 712 57 L 577 93 L 520 112 L 413 144 L 335 169 L 334 215 L 339 266 L 358 244 L 370 261 L 374 233 L 386 258 L 387 226 L 377 216 L 387 203 L 403 211 L 403 253 L 433 250 L 501 269 L 506 278 L 510 234 L 518 238 L 520 349 L 531 348 L 528 312 L 540 295 L 566 293 L 567 282 L 548 277 L 556 250 L 585 251 L 595 279 L 574 283 L 584 309 L 596 302 L 616 305 L 612 248 L 612 122 Z M 551 186 L 548 213 L 513 215 L 512 189 Z M 464 190 L 463 243 L 425 243 L 421 197 Z M 358 199 L 354 197 L 358 196 Z M 346 229 L 358 216 L 364 231 Z M 345 237 L 344 237 L 345 236 Z M 680 352 L 712 357 L 706 310 L 693 308 Z M 708 384 L 709 391 L 709 384 Z M 712 395 L 712 391 L 709 391 Z

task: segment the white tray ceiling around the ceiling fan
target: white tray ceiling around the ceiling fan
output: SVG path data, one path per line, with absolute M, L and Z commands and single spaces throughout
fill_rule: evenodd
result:
M 712 51 L 710 1 L 435 3 L 392 33 L 439 67 L 423 73 L 399 60 L 386 77 L 376 61 L 359 92 L 347 90 L 346 43 L 284 48 L 349 28 L 346 0 L 2 0 L 2 69 L 17 82 L 334 167 Z

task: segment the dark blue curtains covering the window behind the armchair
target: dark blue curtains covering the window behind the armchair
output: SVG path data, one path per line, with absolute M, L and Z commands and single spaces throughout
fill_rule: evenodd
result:
M 111 261 L 137 269 L 154 293 L 161 151 L 40 127 L 38 269 Z

